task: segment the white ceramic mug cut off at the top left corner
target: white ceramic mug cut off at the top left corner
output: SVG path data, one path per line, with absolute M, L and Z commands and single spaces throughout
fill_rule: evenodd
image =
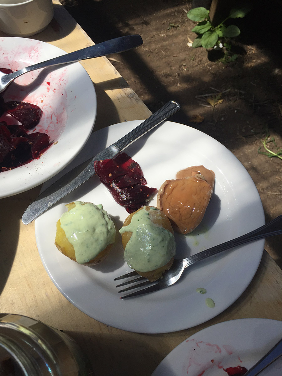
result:
M 0 30 L 31 36 L 47 27 L 54 15 L 52 0 L 0 0 Z

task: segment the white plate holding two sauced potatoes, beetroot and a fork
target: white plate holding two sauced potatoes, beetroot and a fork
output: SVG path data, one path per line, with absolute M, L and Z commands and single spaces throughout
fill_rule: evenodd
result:
M 95 132 L 80 156 L 87 159 L 100 152 L 140 122 L 128 121 Z M 251 177 L 229 150 L 205 133 L 166 121 L 126 151 L 139 163 L 148 185 L 157 189 L 188 166 L 203 164 L 215 172 L 214 194 L 202 223 L 191 234 L 175 234 L 177 258 L 200 252 L 264 224 L 261 200 Z M 68 168 L 71 166 L 74 163 Z M 120 329 L 160 333 L 203 323 L 224 311 L 243 293 L 261 260 L 264 240 L 193 265 L 190 270 L 186 269 L 179 283 L 167 289 L 121 300 L 114 278 L 130 269 L 123 259 L 120 237 L 108 258 L 95 267 L 71 261 L 54 245 L 56 221 L 66 211 L 65 204 L 75 200 L 103 204 L 118 229 L 127 217 L 125 209 L 114 201 L 97 176 L 91 177 L 36 219 L 36 241 L 42 262 L 71 303 L 96 320 Z M 156 196 L 150 205 L 156 205 Z M 207 293 L 197 293 L 199 287 L 205 288 Z M 206 298 L 214 300 L 214 308 L 206 306 Z

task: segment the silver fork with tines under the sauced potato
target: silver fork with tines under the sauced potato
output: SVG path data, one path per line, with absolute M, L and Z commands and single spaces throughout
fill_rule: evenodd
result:
M 210 256 L 216 255 L 217 253 L 223 252 L 227 249 L 231 249 L 233 247 L 240 246 L 241 244 L 249 243 L 251 241 L 267 238 L 273 235 L 279 235 L 282 233 L 282 215 L 279 215 L 277 218 L 273 219 L 272 221 L 264 224 L 264 226 L 259 227 L 256 230 L 246 233 L 238 238 L 226 241 L 225 243 L 219 244 L 218 246 L 209 248 L 205 251 L 196 253 L 196 255 L 187 257 L 185 259 L 179 260 L 174 259 L 173 264 L 169 270 L 167 270 L 163 277 L 155 282 L 150 282 L 145 277 L 138 277 L 134 279 L 127 280 L 123 282 L 117 287 L 129 285 L 129 287 L 124 288 L 123 290 L 119 290 L 118 293 L 123 293 L 125 291 L 129 291 L 135 288 L 144 287 L 145 288 L 135 291 L 134 293 L 130 293 L 124 296 L 121 296 L 121 299 L 132 297 L 132 296 L 139 296 L 147 293 L 152 293 L 153 291 L 161 290 L 168 286 L 175 284 L 179 278 L 181 277 L 183 271 L 190 265 L 196 264 L 196 262 L 202 261 Z M 132 276 L 137 276 L 138 274 L 135 271 L 130 273 L 124 274 L 123 276 L 117 277 L 114 280 L 120 280 L 129 278 Z M 136 282 L 141 283 L 136 284 Z

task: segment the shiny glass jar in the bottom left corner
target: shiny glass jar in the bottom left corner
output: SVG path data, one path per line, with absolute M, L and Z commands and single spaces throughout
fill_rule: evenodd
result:
M 0 314 L 1 376 L 90 376 L 89 359 L 65 333 L 33 318 Z

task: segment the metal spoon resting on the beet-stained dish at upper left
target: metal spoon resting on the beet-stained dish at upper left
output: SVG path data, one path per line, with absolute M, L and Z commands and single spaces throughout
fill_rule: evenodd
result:
M 143 44 L 143 40 L 140 35 L 126 35 L 86 47 L 82 50 L 67 53 L 66 55 L 58 56 L 57 58 L 30 65 L 29 67 L 20 69 L 14 73 L 2 73 L 0 71 L 0 93 L 5 90 L 15 78 L 26 72 L 51 67 L 52 65 L 73 63 L 79 60 L 92 59 L 100 56 L 111 55 L 112 53 L 124 52 L 131 50 L 134 47 L 138 47 L 141 44 Z

